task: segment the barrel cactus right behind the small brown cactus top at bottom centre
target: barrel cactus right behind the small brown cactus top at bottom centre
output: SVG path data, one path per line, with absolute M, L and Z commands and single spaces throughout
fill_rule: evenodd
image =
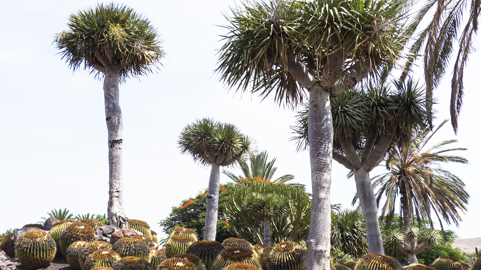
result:
M 246 247 L 229 246 L 222 250 L 211 266 L 211 270 L 221 270 L 234 263 L 246 263 L 260 268 L 252 249 Z

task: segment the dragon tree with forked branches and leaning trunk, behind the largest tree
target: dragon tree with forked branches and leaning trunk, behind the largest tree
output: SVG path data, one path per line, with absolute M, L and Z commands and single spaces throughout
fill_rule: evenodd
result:
M 386 86 L 344 92 L 331 100 L 334 129 L 333 158 L 354 174 L 357 194 L 367 229 L 369 252 L 382 247 L 378 206 L 369 172 L 376 168 L 392 147 L 412 129 L 430 122 L 424 92 L 412 80 Z M 293 130 L 298 149 L 310 144 L 307 110 L 299 113 Z M 379 250 L 378 250 L 378 254 Z

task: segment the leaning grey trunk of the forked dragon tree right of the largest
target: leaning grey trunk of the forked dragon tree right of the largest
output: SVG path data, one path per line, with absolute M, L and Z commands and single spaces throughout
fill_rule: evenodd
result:
M 384 255 L 382 247 L 382 236 L 379 228 L 378 206 L 376 204 L 376 196 L 372 188 L 369 172 L 361 167 L 354 170 L 354 180 L 356 182 L 357 194 L 361 203 L 362 213 L 366 222 L 367 245 L 369 253 Z

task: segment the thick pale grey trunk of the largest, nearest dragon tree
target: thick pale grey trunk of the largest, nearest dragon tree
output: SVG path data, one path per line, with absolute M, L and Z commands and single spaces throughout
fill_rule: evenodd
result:
M 308 113 L 312 208 L 305 270 L 329 270 L 332 115 L 329 93 L 311 89 Z

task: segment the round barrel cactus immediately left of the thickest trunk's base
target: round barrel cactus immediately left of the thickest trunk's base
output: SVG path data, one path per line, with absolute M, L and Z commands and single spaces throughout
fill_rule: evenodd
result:
M 305 251 L 294 242 L 280 242 L 269 252 L 266 263 L 269 270 L 303 270 Z

